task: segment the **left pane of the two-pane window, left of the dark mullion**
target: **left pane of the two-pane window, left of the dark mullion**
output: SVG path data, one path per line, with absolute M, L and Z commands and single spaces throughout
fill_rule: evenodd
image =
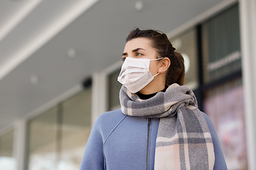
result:
M 28 169 L 56 169 L 58 108 L 28 123 Z

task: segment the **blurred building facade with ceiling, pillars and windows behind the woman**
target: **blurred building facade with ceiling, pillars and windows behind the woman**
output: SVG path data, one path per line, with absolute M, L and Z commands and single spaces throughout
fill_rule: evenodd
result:
M 136 27 L 164 31 L 183 55 L 185 85 L 212 120 L 228 169 L 256 169 L 255 0 L 1 8 L 18 11 L 0 18 L 1 169 L 79 169 L 93 123 L 119 108 L 124 40 Z

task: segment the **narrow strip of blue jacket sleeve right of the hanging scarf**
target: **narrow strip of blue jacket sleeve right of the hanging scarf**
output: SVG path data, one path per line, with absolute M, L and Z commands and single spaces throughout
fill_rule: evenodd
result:
M 215 162 L 213 166 L 213 170 L 228 170 L 228 167 L 225 163 L 224 155 L 222 152 L 222 149 L 220 147 L 220 142 L 218 140 L 217 133 L 215 132 L 215 128 L 213 126 L 213 123 L 211 122 L 210 118 L 203 113 L 203 115 L 206 118 L 206 122 L 208 124 L 208 128 L 210 130 L 210 135 L 213 139 L 213 147 L 214 147 L 214 154 L 215 154 Z

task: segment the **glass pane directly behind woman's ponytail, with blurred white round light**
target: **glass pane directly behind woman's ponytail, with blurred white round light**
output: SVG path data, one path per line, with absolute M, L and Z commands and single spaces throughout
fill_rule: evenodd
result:
M 198 88 L 198 56 L 196 45 L 196 30 L 190 30 L 176 38 L 171 39 L 176 52 L 181 53 L 185 64 L 184 84 L 191 89 Z

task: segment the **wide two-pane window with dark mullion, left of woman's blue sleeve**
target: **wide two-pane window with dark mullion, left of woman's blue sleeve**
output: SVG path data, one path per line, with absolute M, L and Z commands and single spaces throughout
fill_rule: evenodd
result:
M 91 86 L 28 122 L 28 169 L 79 169 L 91 130 Z

